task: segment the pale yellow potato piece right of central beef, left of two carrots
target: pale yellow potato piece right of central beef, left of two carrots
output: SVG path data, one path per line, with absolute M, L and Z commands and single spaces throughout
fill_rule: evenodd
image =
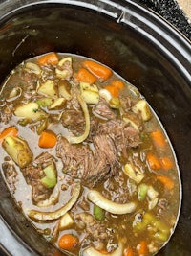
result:
M 140 183 L 140 181 L 144 178 L 144 174 L 142 174 L 137 167 L 129 163 L 124 166 L 124 173 L 136 183 Z

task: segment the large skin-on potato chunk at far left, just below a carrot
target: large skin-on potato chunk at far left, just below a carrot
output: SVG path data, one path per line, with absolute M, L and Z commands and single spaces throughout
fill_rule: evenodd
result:
M 32 162 L 32 151 L 27 142 L 21 138 L 7 136 L 4 139 L 2 146 L 20 168 L 24 168 Z

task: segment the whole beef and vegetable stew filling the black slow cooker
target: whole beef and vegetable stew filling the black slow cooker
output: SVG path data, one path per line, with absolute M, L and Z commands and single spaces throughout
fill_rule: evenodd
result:
M 180 212 L 176 157 L 138 89 L 109 67 L 48 53 L 0 94 L 1 171 L 36 230 L 74 255 L 154 255 Z

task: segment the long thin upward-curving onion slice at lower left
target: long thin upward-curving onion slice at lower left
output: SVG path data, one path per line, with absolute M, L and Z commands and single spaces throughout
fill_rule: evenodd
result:
M 74 185 L 74 194 L 73 197 L 61 208 L 53 212 L 41 212 L 36 210 L 30 210 L 28 212 L 28 216 L 36 221 L 52 221 L 60 218 L 64 214 L 66 214 L 76 202 L 80 193 L 80 183 L 75 183 Z

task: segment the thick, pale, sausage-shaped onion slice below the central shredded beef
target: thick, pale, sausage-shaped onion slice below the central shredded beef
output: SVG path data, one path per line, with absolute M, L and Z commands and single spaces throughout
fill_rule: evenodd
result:
M 90 190 L 88 193 L 88 198 L 90 201 L 95 203 L 100 208 L 112 214 L 127 214 L 132 213 L 136 210 L 136 202 L 128 203 L 117 203 L 104 198 L 98 191 Z

